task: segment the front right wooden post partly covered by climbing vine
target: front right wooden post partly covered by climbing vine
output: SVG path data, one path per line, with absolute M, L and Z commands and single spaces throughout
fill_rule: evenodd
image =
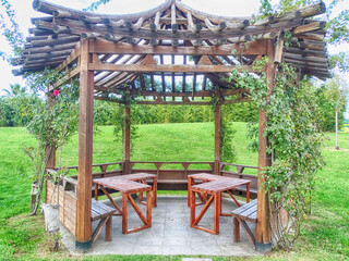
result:
M 273 94 L 275 77 L 275 49 L 273 41 L 267 45 L 267 55 L 269 62 L 266 65 L 266 78 L 268 86 L 268 97 Z M 264 130 L 267 125 L 267 115 L 265 111 L 260 110 L 260 130 L 258 130 L 258 189 L 257 189 L 257 223 L 255 226 L 256 250 L 272 250 L 272 232 L 269 220 L 269 195 L 265 192 L 263 183 L 265 176 L 262 173 L 265 166 L 272 165 L 272 156 L 267 153 L 268 139 L 264 137 Z

